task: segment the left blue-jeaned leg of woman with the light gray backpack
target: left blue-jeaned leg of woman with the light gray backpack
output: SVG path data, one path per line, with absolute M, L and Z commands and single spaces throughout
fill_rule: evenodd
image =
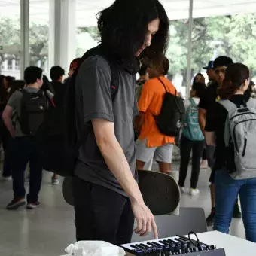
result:
M 236 181 L 231 178 L 227 169 L 220 169 L 215 172 L 216 208 L 214 230 L 229 233 L 233 206 L 236 202 L 242 182 L 243 181 Z

